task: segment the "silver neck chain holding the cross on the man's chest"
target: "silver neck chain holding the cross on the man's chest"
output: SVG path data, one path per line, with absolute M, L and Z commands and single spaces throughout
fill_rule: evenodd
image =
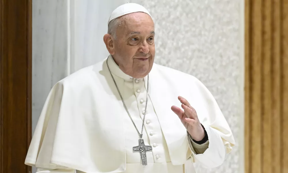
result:
M 108 57 L 108 58 L 109 58 L 109 57 Z M 148 103 L 149 74 L 148 74 L 148 78 L 147 78 L 146 105 L 145 105 L 144 117 L 143 117 L 143 122 L 142 122 L 142 131 L 141 131 L 141 133 L 139 133 L 139 130 L 137 129 L 137 127 L 136 127 L 136 125 L 135 125 L 135 123 L 134 123 L 134 121 L 133 121 L 133 119 L 132 119 L 132 117 L 131 117 L 131 115 L 130 115 L 128 109 L 127 109 L 127 106 L 126 106 L 126 104 L 125 104 L 125 102 L 124 102 L 124 99 L 123 99 L 121 93 L 120 93 L 120 90 L 119 90 L 119 88 L 118 88 L 118 86 L 117 86 L 117 84 L 116 84 L 116 82 L 115 82 L 115 80 L 114 80 L 114 77 L 113 77 L 113 75 L 112 75 L 112 73 L 111 73 L 111 71 L 110 71 L 110 68 L 109 68 L 109 65 L 108 65 L 108 58 L 107 58 L 107 60 L 106 60 L 106 64 L 107 64 L 108 70 L 109 70 L 109 72 L 110 72 L 110 74 L 111 74 L 111 77 L 112 77 L 112 79 L 113 79 L 113 82 L 114 82 L 114 84 L 115 84 L 115 86 L 116 86 L 116 89 L 117 89 L 117 91 L 118 91 L 118 93 L 119 93 L 119 95 L 120 95 L 120 97 L 121 97 L 121 100 L 122 100 L 122 102 L 123 102 L 123 105 L 124 105 L 124 107 L 125 107 L 125 109 L 126 109 L 128 115 L 129 115 L 129 117 L 130 117 L 132 123 L 134 124 L 134 127 L 136 128 L 136 130 L 137 130 L 137 132 L 138 132 L 138 134 L 139 134 L 139 137 L 142 138 L 143 128 L 144 128 L 144 121 L 145 121 L 145 115 L 146 115 L 146 108 L 147 108 L 147 103 Z

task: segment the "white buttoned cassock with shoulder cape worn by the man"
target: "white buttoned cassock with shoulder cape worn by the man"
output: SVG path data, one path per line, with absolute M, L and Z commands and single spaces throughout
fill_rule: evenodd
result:
M 113 61 L 108 64 L 125 104 L 141 131 L 147 76 L 134 79 Z M 186 98 L 197 111 L 209 141 L 191 141 L 170 109 Z M 130 120 L 106 65 L 106 59 L 59 81 L 51 90 L 36 126 L 25 164 L 39 173 L 190 173 L 193 162 L 212 168 L 223 163 L 234 138 L 215 99 L 195 77 L 154 64 L 143 140 L 152 146 L 147 166 L 140 154 L 139 135 Z M 41 171 L 46 170 L 46 171 Z M 47 171 L 50 170 L 50 171 Z

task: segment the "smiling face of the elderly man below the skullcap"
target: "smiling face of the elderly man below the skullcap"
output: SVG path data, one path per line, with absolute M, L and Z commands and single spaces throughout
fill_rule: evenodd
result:
M 120 21 L 113 41 L 113 59 L 125 74 L 143 78 L 154 62 L 154 22 L 142 12 L 122 16 Z

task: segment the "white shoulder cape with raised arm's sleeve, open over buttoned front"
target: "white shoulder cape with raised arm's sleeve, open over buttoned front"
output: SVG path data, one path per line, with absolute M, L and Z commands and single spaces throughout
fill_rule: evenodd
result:
M 154 64 L 149 74 L 149 96 L 171 162 L 184 164 L 190 150 L 187 131 L 170 109 L 173 105 L 180 107 L 179 95 L 195 108 L 209 137 L 209 148 L 204 154 L 192 153 L 192 160 L 207 167 L 219 166 L 235 142 L 215 99 L 195 77 Z M 125 171 L 122 117 L 126 115 L 119 114 L 123 109 L 106 59 L 71 74 L 50 91 L 25 164 L 38 168 L 69 167 L 87 173 Z

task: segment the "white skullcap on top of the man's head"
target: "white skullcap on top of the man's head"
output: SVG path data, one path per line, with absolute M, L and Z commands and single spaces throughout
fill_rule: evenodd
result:
M 146 13 L 152 18 L 152 16 L 148 12 L 148 10 L 146 10 L 146 8 L 143 7 L 142 5 L 139 5 L 137 3 L 126 3 L 126 4 L 123 4 L 123 5 L 120 5 L 119 7 L 117 7 L 112 12 L 112 14 L 111 14 L 111 16 L 110 16 L 110 18 L 108 20 L 108 25 L 109 25 L 110 21 L 115 19 L 115 18 L 118 18 L 120 16 L 124 16 L 126 14 L 135 13 L 135 12 Z

